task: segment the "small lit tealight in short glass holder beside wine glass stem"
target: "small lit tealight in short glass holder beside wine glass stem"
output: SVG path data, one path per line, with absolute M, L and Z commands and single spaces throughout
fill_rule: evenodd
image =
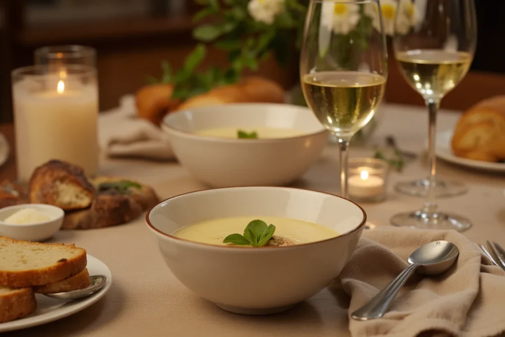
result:
M 349 198 L 377 203 L 386 199 L 389 165 L 375 158 L 349 159 Z

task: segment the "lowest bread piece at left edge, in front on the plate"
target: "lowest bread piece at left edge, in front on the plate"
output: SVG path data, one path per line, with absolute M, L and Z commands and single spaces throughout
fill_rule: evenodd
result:
M 0 323 L 24 317 L 35 310 L 37 301 L 30 288 L 0 286 Z

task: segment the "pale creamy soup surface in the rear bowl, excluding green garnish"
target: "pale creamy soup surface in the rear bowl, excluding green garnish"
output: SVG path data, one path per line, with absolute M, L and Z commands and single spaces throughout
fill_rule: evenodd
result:
M 293 129 L 282 128 L 237 128 L 237 127 L 220 127 L 212 129 L 197 130 L 194 133 L 200 136 L 219 137 L 219 138 L 238 138 L 238 131 L 244 131 L 248 134 L 256 132 L 258 138 L 289 138 L 306 134 L 305 132 Z

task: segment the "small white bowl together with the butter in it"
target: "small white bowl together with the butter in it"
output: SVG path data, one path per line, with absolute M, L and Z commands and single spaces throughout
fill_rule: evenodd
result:
M 41 242 L 52 237 L 63 223 L 64 211 L 45 204 L 23 204 L 0 209 L 0 235 Z

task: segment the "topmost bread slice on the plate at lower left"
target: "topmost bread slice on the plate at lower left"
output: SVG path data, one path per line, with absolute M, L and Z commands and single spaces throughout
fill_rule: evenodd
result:
M 0 236 L 0 285 L 31 287 L 60 281 L 86 267 L 75 245 L 40 244 Z

